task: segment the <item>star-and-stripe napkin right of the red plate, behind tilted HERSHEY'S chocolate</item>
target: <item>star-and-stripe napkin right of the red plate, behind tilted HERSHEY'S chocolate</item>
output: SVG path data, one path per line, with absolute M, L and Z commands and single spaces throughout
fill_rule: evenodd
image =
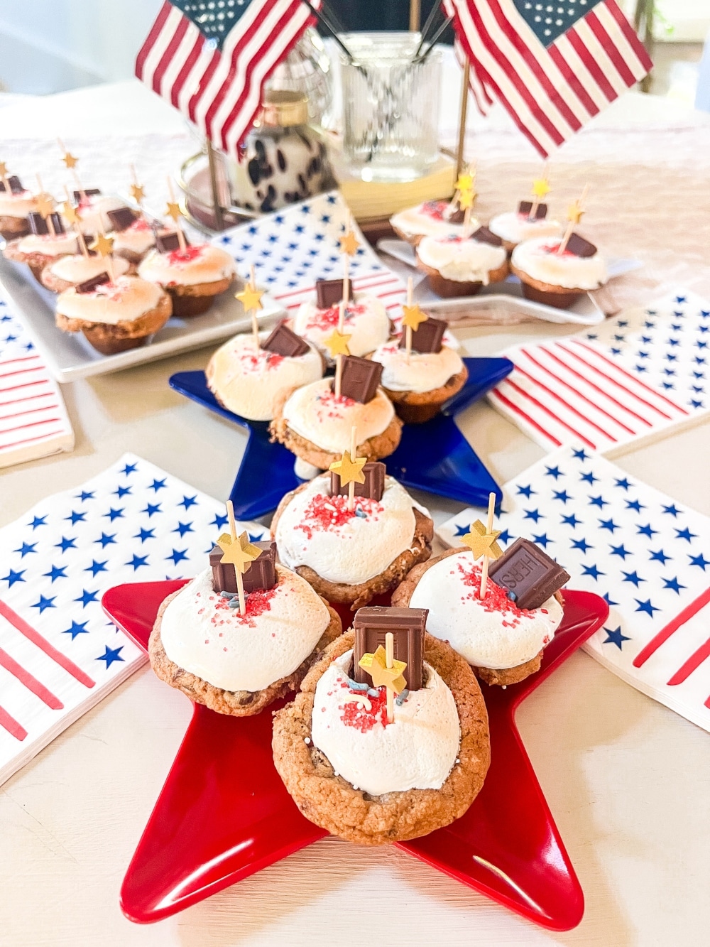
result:
M 634 688 L 710 730 L 710 519 L 583 445 L 560 448 L 503 488 L 499 543 L 524 536 L 603 596 L 584 648 Z M 478 512 L 438 530 L 461 545 Z

